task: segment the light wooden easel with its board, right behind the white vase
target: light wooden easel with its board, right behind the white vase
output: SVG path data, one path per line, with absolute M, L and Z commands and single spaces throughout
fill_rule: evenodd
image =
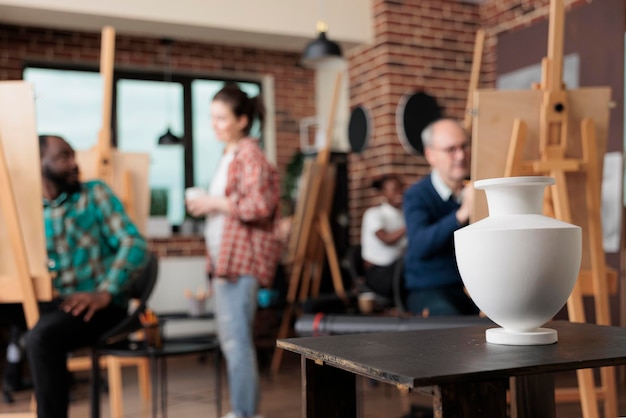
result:
M 610 90 L 564 89 L 563 26 L 563 2 L 552 0 L 548 56 L 542 62 L 542 83 L 538 88 L 529 92 L 477 92 L 472 179 L 502 175 L 556 178 L 556 186 L 546 194 L 547 212 L 583 229 L 583 262 L 567 303 L 569 318 L 585 322 L 583 296 L 591 294 L 596 322 L 609 325 L 607 282 L 613 277 L 616 281 L 616 274 L 607 271 L 604 261 L 600 190 Z M 511 126 L 510 146 L 497 142 L 506 137 L 505 131 L 510 132 Z M 502 160 L 503 155 L 506 161 Z M 485 213 L 485 202 L 478 197 L 476 218 Z M 600 387 L 595 386 L 592 370 L 579 370 L 577 376 L 578 390 L 558 389 L 557 401 L 572 401 L 580 396 L 584 416 L 595 418 L 598 399 L 602 399 L 605 416 L 617 416 L 614 369 L 601 370 Z

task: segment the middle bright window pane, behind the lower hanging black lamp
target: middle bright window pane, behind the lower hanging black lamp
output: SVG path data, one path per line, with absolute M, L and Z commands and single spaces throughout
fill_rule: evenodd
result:
M 167 129 L 183 137 L 183 87 L 179 83 L 122 79 L 117 83 L 118 148 L 150 154 L 150 189 L 167 190 L 167 218 L 185 218 L 184 149 L 158 145 Z

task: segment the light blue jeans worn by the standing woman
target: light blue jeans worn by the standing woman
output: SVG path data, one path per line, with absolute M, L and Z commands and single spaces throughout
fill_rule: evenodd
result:
M 259 371 L 252 338 L 259 282 L 240 276 L 231 282 L 216 278 L 215 316 L 220 347 L 226 358 L 230 405 L 238 417 L 252 417 L 259 405 Z

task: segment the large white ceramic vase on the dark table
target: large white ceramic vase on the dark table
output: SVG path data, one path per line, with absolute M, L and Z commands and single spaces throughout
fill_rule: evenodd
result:
M 541 328 L 565 305 L 580 269 L 581 228 L 543 216 L 552 177 L 479 180 L 489 217 L 454 233 L 463 283 L 480 310 L 502 328 L 487 341 L 506 345 L 552 344 Z

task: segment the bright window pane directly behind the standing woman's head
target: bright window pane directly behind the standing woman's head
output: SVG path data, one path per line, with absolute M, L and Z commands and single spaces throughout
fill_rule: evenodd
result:
M 261 91 L 256 83 L 237 83 L 249 97 L 255 97 Z M 211 100 L 224 86 L 223 81 L 194 80 L 191 83 L 193 107 L 193 179 L 194 185 L 208 188 L 224 144 L 215 138 L 211 126 Z M 258 122 L 252 126 L 250 134 L 259 136 Z

